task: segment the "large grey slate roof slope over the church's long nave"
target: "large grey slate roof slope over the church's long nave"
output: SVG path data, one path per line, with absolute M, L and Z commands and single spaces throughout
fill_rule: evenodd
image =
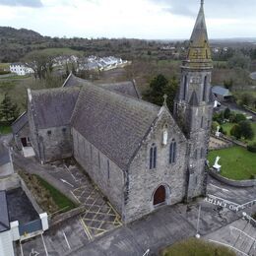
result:
M 101 87 L 83 87 L 71 125 L 126 170 L 157 119 L 160 106 Z

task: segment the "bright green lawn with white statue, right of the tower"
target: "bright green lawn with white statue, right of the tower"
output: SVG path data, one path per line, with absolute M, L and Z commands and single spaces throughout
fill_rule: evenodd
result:
M 250 179 L 252 175 L 256 175 L 256 154 L 238 146 L 211 151 L 208 155 L 211 166 L 218 156 L 221 157 L 219 163 L 222 165 L 221 174 L 224 177 L 243 180 Z

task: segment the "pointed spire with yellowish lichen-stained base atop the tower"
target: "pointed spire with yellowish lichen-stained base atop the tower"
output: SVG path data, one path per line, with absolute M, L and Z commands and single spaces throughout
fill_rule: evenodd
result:
M 196 24 L 190 37 L 187 61 L 196 63 L 212 61 L 204 13 L 204 0 L 201 0 Z

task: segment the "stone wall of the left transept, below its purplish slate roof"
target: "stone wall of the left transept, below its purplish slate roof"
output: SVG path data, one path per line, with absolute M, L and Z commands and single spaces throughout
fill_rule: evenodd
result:
M 62 160 L 73 156 L 73 141 L 69 126 L 40 129 L 38 134 L 43 162 Z

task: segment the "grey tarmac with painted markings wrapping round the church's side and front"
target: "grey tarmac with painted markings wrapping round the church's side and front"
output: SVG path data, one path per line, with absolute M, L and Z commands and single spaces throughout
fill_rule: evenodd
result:
M 213 203 L 200 199 L 189 205 L 162 207 L 142 220 L 122 225 L 119 215 L 76 164 L 68 167 L 63 163 L 41 166 L 36 160 L 15 160 L 16 164 L 30 172 L 36 170 L 63 193 L 86 206 L 83 214 L 53 226 L 41 236 L 22 242 L 21 246 L 17 246 L 19 256 L 22 256 L 21 249 L 24 256 L 142 256 L 148 249 L 150 255 L 157 255 L 160 248 L 196 234 L 199 205 L 199 232 L 202 235 L 241 217 L 242 211 L 235 213 L 220 206 L 217 201 Z M 235 204 L 256 198 L 255 188 L 237 189 L 211 177 L 208 194 Z

